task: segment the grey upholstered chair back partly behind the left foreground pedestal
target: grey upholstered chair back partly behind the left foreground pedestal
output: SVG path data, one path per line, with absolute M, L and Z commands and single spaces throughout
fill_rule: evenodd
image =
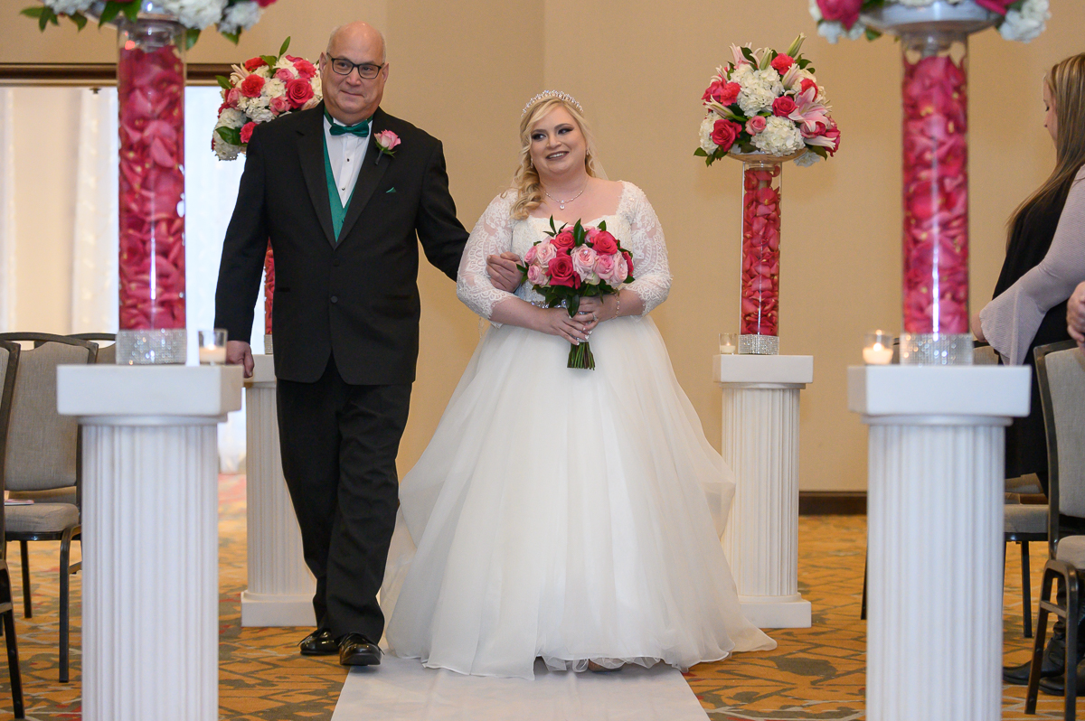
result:
M 77 486 L 79 425 L 56 412 L 56 366 L 93 363 L 89 340 L 40 333 L 5 333 L 0 340 L 34 342 L 23 348 L 12 395 L 4 484 L 12 491 L 42 491 Z

